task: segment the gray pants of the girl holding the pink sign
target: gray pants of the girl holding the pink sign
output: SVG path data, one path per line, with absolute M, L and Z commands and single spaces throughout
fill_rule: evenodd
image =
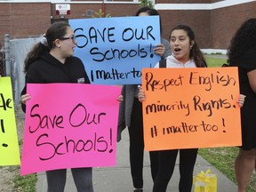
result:
M 77 192 L 93 192 L 92 168 L 72 168 Z M 63 192 L 66 184 L 67 169 L 46 172 L 48 192 Z

